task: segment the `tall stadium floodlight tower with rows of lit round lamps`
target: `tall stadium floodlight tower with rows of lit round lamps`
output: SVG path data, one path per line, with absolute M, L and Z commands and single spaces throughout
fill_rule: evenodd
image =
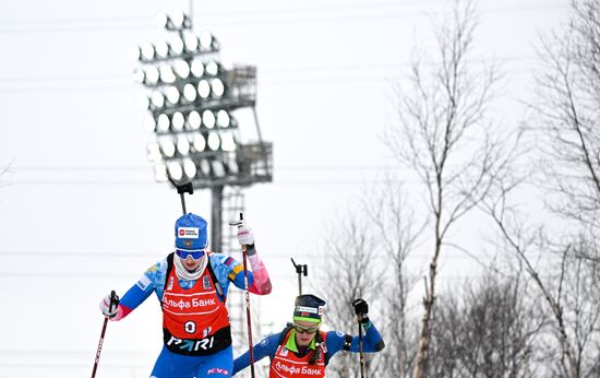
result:
M 157 181 L 191 182 L 212 191 L 211 245 L 223 247 L 223 191 L 272 181 L 273 144 L 262 139 L 256 116 L 256 68 L 219 61 L 219 43 L 194 34 L 182 11 L 159 14 L 168 37 L 132 47 L 143 84 L 145 123 L 156 135 L 147 145 Z M 233 111 L 251 108 L 257 141 L 241 144 Z

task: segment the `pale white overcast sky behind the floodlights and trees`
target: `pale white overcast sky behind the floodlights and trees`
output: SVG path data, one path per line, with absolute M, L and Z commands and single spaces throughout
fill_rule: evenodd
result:
M 194 2 L 194 29 L 214 33 L 223 62 L 259 69 L 257 113 L 274 143 L 275 178 L 245 190 L 245 217 L 274 284 L 261 299 L 263 319 L 276 328 L 297 294 L 290 257 L 309 264 L 305 292 L 326 293 L 311 280 L 327 231 L 394 166 L 381 142 L 393 121 L 391 82 L 407 72 L 415 42 L 430 36 L 425 14 L 440 16 L 443 4 Z M 171 250 L 179 199 L 154 181 L 146 161 L 154 135 L 142 126 L 145 92 L 131 79 L 128 48 L 166 35 L 158 12 L 188 7 L 0 1 L 0 166 L 11 166 L 0 176 L 0 377 L 89 375 L 99 299 L 111 288 L 123 294 Z M 567 9 L 566 0 L 480 1 L 477 52 L 508 74 L 507 125 L 531 95 L 538 33 L 564 22 Z M 254 125 L 243 117 L 251 139 Z M 209 220 L 209 192 L 188 206 Z M 445 267 L 463 263 L 458 256 Z M 109 324 L 97 376 L 147 377 L 159 349 L 153 297 Z

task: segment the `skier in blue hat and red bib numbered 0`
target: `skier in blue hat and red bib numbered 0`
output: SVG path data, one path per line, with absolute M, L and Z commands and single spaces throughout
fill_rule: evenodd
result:
M 230 257 L 208 251 L 207 223 L 185 214 L 175 225 L 176 251 L 152 265 L 118 302 L 110 295 L 100 310 L 110 320 L 121 320 L 155 293 L 163 309 L 163 351 L 152 377 L 231 377 L 231 330 L 225 306 L 229 283 L 244 288 L 243 267 Z M 252 272 L 249 291 L 271 293 L 271 280 L 254 248 L 249 227 L 238 228 L 238 240 L 248 252 Z M 118 298 L 117 298 L 118 300 Z

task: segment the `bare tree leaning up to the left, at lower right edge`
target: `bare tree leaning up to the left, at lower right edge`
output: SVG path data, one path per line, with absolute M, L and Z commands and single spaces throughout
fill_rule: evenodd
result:
M 552 338 L 545 338 L 547 368 L 555 377 L 587 377 L 593 371 L 593 356 L 598 354 L 593 340 L 600 336 L 600 285 L 593 280 L 597 267 L 576 258 L 576 250 L 587 248 L 586 239 L 552 243 L 542 226 L 527 224 L 526 216 L 509 204 L 508 193 L 504 191 L 481 205 L 496 223 L 506 250 L 513 250 L 521 261 L 545 303 L 552 319 Z

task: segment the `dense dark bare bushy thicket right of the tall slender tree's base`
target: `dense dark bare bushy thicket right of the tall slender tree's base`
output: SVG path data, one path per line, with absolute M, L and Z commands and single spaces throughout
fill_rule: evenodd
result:
M 520 273 L 467 281 L 436 307 L 430 377 L 526 377 L 542 321 Z

